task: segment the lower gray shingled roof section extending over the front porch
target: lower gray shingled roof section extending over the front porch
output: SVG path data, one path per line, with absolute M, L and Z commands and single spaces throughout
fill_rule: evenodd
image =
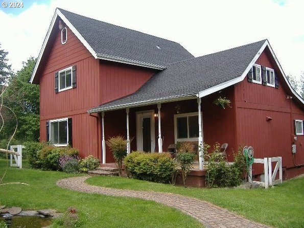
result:
M 88 111 L 119 109 L 132 103 L 196 95 L 240 77 L 265 41 L 172 63 L 166 70 L 156 73 L 134 94 Z

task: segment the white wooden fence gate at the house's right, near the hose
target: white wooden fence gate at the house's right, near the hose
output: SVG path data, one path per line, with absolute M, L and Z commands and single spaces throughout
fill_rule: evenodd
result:
M 272 162 L 276 162 L 274 170 L 272 172 Z M 253 163 L 264 164 L 264 181 L 252 180 L 252 165 L 249 166 L 248 170 L 248 181 L 254 184 L 259 184 L 266 189 L 269 186 L 282 184 L 283 173 L 282 173 L 282 157 L 264 157 L 254 158 Z M 275 179 L 277 171 L 279 171 L 279 178 Z

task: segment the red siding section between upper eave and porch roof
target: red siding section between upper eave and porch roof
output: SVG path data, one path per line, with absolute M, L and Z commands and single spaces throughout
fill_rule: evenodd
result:
M 145 84 L 153 74 L 155 74 L 155 70 L 101 61 L 101 103 L 107 103 L 133 94 Z

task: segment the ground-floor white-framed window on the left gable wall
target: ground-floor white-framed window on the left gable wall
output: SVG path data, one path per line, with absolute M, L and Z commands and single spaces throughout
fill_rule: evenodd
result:
M 50 121 L 50 142 L 55 146 L 68 144 L 68 119 Z

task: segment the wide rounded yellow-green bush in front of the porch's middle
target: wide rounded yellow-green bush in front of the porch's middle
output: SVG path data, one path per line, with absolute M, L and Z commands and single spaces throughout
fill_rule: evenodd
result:
M 132 177 L 157 183 L 170 183 L 176 171 L 169 153 L 135 151 L 125 157 L 124 164 Z

